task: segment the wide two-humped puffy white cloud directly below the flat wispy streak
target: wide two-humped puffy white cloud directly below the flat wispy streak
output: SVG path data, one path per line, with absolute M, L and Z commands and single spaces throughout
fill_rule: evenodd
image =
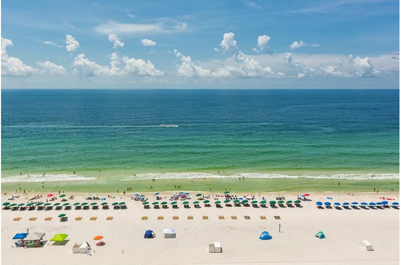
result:
M 76 72 L 86 76 L 159 76 L 164 72 L 156 69 L 148 60 L 120 56 L 117 52 L 110 55 L 110 66 L 100 65 L 85 57 L 84 53 L 78 54 L 74 59 Z

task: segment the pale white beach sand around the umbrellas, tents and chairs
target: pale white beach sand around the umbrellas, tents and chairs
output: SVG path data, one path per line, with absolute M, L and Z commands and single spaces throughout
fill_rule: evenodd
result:
M 193 192 L 192 192 L 193 193 Z M 212 207 L 143 209 L 143 205 L 127 197 L 106 201 L 126 201 L 128 209 L 114 210 L 50 210 L 11 211 L 2 210 L 2 263 L 3 264 L 399 264 L 399 210 L 386 209 L 317 209 L 315 202 L 331 201 L 381 201 L 376 194 L 317 195 L 311 194 L 312 201 L 303 201 L 302 208 L 253 208 Z M 266 196 L 266 195 L 265 195 Z M 326 196 L 333 197 L 327 200 Z M 2 202 L 9 196 L 2 195 Z M 68 196 L 67 196 L 68 197 Z M 99 197 L 103 197 L 99 195 Z M 393 195 L 399 201 L 398 195 Z M 153 198 L 153 197 L 151 197 Z M 275 195 L 267 196 L 267 201 Z M 286 194 L 286 200 L 295 195 Z M 46 198 L 44 198 L 46 200 Z M 26 202 L 25 196 L 15 202 Z M 76 196 L 68 202 L 83 202 L 83 196 Z M 193 201 L 193 199 L 191 200 Z M 212 200 L 213 202 L 214 200 Z M 100 201 L 98 201 L 100 202 Z M 391 202 L 391 201 L 390 201 Z M 203 203 L 200 205 L 203 206 Z M 67 213 L 69 220 L 60 222 L 57 215 Z M 113 220 L 106 220 L 106 216 Z M 148 220 L 141 220 L 147 215 Z M 163 215 L 163 220 L 157 220 Z M 172 216 L 179 216 L 173 220 Z M 193 220 L 188 220 L 192 215 Z M 208 215 L 209 219 L 202 218 Z M 225 219 L 219 219 L 224 215 Z M 231 219 L 236 215 L 237 220 Z M 249 215 L 251 219 L 245 219 Z M 259 216 L 265 215 L 266 220 Z M 276 220 L 274 215 L 281 216 Z M 21 216 L 20 221 L 13 221 Z M 38 217 L 29 221 L 29 217 Z M 44 218 L 52 216 L 51 221 Z M 81 221 L 75 220 L 82 216 Z M 97 220 L 89 220 L 97 216 Z M 279 233 L 279 223 L 282 232 Z M 56 233 L 67 233 L 66 245 L 52 245 L 48 241 L 41 248 L 13 247 L 15 233 L 46 232 L 46 239 Z M 174 228 L 176 238 L 163 238 L 163 228 Z M 153 239 L 144 239 L 145 230 L 156 233 Z M 267 230 L 272 240 L 259 240 L 262 231 Z M 322 230 L 326 238 L 314 236 Z M 96 246 L 93 237 L 103 235 L 106 245 Z M 374 251 L 363 250 L 361 240 L 368 240 Z M 75 243 L 87 241 L 92 246 L 92 255 L 74 254 Z M 209 243 L 220 241 L 223 253 L 209 253 Z M 122 252 L 122 250 L 124 252 Z

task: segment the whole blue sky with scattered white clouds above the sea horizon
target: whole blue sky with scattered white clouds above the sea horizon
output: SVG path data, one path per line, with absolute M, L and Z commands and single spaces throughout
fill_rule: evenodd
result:
M 1 7 L 2 88 L 399 88 L 398 0 Z

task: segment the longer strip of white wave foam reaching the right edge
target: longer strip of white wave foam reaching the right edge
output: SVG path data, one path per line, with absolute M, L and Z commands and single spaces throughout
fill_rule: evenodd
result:
M 273 173 L 237 173 L 233 175 L 216 175 L 210 173 L 199 172 L 169 172 L 169 173 L 143 173 L 136 176 L 128 176 L 121 181 L 131 180 L 147 180 L 147 179 L 172 179 L 172 178 L 317 178 L 317 179 L 350 179 L 350 180 L 367 180 L 367 179 L 396 179 L 399 178 L 398 173 L 375 174 L 332 174 L 332 175 L 286 175 Z

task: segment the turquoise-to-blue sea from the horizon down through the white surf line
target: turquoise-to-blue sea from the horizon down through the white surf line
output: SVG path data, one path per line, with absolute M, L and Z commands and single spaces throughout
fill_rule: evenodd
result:
M 396 89 L 3 89 L 2 181 L 397 178 L 398 98 Z

